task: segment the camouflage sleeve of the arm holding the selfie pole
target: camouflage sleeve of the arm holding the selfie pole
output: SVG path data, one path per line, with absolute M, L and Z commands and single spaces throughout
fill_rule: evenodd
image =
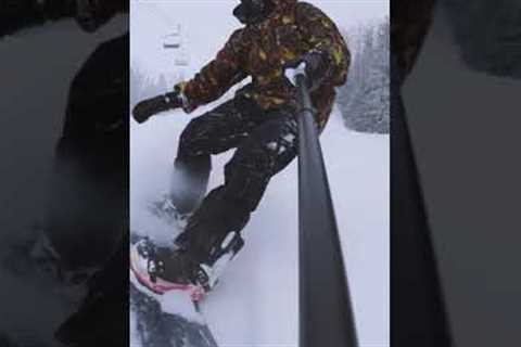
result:
M 310 51 L 319 51 L 329 60 L 326 83 L 342 86 L 347 79 L 351 53 L 336 25 L 316 7 L 298 2 L 296 21 L 303 29 Z

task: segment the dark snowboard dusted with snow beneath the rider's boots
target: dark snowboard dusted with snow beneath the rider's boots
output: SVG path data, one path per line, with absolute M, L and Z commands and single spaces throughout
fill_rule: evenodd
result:
M 151 204 L 149 210 L 180 229 L 183 220 L 171 207 L 167 201 L 161 201 Z M 131 233 L 130 243 L 142 239 Z M 131 271 L 130 310 L 136 318 L 134 338 L 138 338 L 142 347 L 218 347 L 199 304 L 182 292 L 154 294 L 143 288 Z

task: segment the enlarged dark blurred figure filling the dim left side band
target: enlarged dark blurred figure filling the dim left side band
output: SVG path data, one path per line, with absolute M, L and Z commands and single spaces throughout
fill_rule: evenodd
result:
M 94 31 L 125 0 L 1 0 L 0 37 L 64 18 Z M 75 76 L 46 221 L 59 273 L 97 271 L 79 311 L 56 337 L 69 346 L 128 345 L 129 37 L 102 43 Z M 96 270 L 101 269 L 101 270 Z

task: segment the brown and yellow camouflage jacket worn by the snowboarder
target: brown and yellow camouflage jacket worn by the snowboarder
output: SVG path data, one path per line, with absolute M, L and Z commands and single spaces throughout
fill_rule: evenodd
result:
M 319 50 L 329 60 L 323 83 L 312 93 L 317 120 L 323 127 L 335 98 L 334 87 L 345 82 L 351 54 L 334 23 L 320 10 L 297 0 L 272 0 L 275 10 L 263 22 L 236 30 L 215 60 L 191 80 L 176 86 L 183 93 L 186 112 L 221 97 L 247 76 L 242 90 L 264 110 L 296 106 L 296 89 L 284 77 L 284 66 Z

